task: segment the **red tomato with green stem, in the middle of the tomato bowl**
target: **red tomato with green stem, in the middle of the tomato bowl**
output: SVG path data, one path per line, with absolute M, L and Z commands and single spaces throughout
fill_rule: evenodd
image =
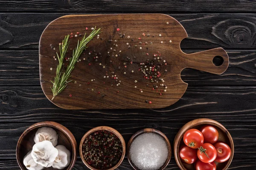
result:
M 212 144 L 204 143 L 198 148 L 198 158 L 204 163 L 213 162 L 216 159 L 217 152 Z

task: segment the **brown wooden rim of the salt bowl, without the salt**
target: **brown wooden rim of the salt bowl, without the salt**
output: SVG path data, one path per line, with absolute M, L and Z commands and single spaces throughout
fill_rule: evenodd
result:
M 131 164 L 131 166 L 134 168 L 134 170 L 140 170 L 138 167 L 135 166 L 135 164 L 131 161 L 131 156 L 130 156 L 130 147 L 131 147 L 131 143 L 134 141 L 135 138 L 137 138 L 138 136 L 140 136 L 143 133 L 155 133 L 159 136 L 161 136 L 168 147 L 168 157 L 166 159 L 166 162 L 163 164 L 162 167 L 160 167 L 158 170 L 163 170 L 168 164 L 169 161 L 171 160 L 171 156 L 172 156 L 172 147 L 171 144 L 168 140 L 168 138 L 165 136 L 165 134 L 163 134 L 163 132 L 153 129 L 153 128 L 145 128 L 142 130 L 137 131 L 136 133 L 133 134 L 133 136 L 131 136 L 131 139 L 129 140 L 128 144 L 127 144 L 127 159 L 129 161 L 129 163 Z

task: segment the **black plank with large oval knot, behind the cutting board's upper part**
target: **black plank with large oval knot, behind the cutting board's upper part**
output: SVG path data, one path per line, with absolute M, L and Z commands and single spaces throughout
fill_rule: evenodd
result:
M 52 20 L 68 14 L 72 13 L 0 13 L 0 49 L 38 49 L 44 28 Z M 188 34 L 181 42 L 181 49 L 256 49 L 256 14 L 169 15 Z

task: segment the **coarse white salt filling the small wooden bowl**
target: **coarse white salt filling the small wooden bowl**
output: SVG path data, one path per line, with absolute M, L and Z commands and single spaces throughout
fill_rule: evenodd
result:
M 168 147 L 165 140 L 155 133 L 143 133 L 130 147 L 131 161 L 140 170 L 157 170 L 166 162 Z

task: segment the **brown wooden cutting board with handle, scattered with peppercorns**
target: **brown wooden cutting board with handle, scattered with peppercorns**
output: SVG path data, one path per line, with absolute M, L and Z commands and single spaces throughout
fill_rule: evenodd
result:
M 180 42 L 187 33 L 177 20 L 165 14 L 67 15 L 45 28 L 39 44 L 41 87 L 50 101 L 58 44 L 65 35 L 73 33 L 66 56 L 69 58 L 77 40 L 82 38 L 79 34 L 88 35 L 95 26 L 102 33 L 87 44 L 71 74 L 73 81 L 52 101 L 58 107 L 164 108 L 185 93 L 188 84 L 180 78 L 184 68 L 222 74 L 229 65 L 223 48 L 183 53 Z M 214 57 L 221 59 L 222 65 L 214 65 Z

